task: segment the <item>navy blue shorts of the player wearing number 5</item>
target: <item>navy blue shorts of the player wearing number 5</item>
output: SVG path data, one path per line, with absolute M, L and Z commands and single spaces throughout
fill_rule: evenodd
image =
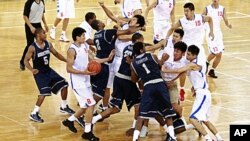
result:
M 68 86 L 68 82 L 57 74 L 53 69 L 46 72 L 38 72 L 34 75 L 37 87 L 40 95 L 51 95 L 51 92 L 57 94 L 57 92 L 63 87 Z

